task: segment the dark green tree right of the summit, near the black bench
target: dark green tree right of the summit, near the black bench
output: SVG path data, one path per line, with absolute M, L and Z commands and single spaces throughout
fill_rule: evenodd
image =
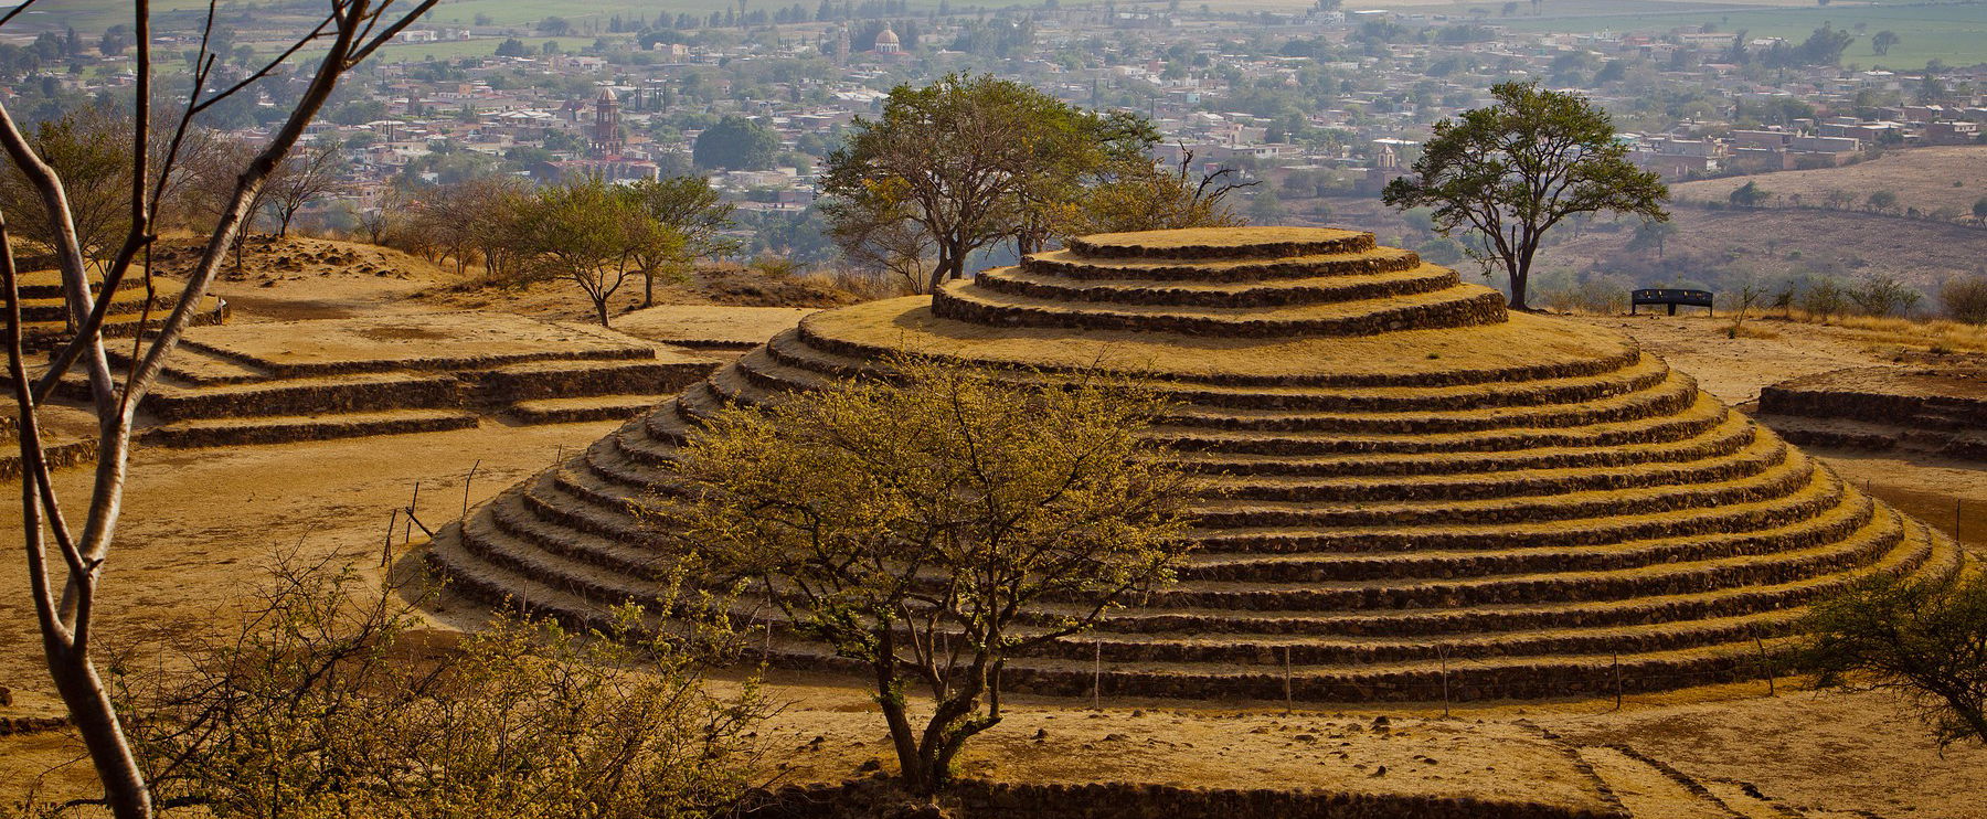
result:
M 1401 211 L 1433 207 L 1445 237 L 1468 231 L 1470 256 L 1484 272 L 1504 270 L 1510 306 L 1526 310 L 1548 231 L 1604 211 L 1667 221 L 1669 189 L 1627 161 L 1613 121 L 1586 97 L 1518 82 L 1490 91 L 1494 105 L 1435 123 L 1415 175 L 1387 183 L 1381 199 Z

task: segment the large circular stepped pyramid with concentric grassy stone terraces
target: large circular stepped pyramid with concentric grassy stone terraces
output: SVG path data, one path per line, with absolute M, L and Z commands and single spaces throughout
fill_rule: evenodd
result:
M 1856 576 L 1961 565 L 1631 340 L 1506 314 L 1454 270 L 1323 229 L 1087 237 L 932 298 L 813 314 L 451 525 L 429 559 L 459 588 L 560 616 L 654 600 L 670 555 L 632 507 L 666 491 L 697 423 L 896 350 L 1146 380 L 1176 400 L 1152 433 L 1218 489 L 1178 584 L 1011 660 L 1011 688 L 1679 688 L 1757 676 L 1755 638 Z M 771 652 L 839 664 L 797 638 Z

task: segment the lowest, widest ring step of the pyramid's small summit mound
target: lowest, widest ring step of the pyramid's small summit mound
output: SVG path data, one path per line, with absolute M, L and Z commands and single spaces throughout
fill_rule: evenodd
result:
M 1454 286 L 1395 298 L 1284 308 L 1166 308 L 1146 304 L 1103 308 L 992 292 L 962 280 L 948 282 L 932 296 L 932 314 L 992 326 L 1143 330 L 1222 338 L 1371 336 L 1407 328 L 1502 322 L 1504 296 L 1478 286 Z

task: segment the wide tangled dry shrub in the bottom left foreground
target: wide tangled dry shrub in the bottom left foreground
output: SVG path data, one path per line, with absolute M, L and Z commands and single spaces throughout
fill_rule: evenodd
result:
M 499 614 L 449 640 L 393 600 L 282 561 L 229 640 L 119 662 L 155 799 L 219 817 L 636 819 L 709 815 L 755 785 L 763 698 L 699 672 L 729 644 L 719 620 L 652 636 L 632 606 L 584 634 Z

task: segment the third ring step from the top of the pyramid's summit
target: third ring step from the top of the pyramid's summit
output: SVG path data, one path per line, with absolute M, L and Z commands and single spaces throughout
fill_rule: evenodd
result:
M 1460 284 L 1454 270 L 1423 264 L 1413 270 L 1351 276 L 1280 278 L 1240 284 L 1170 284 L 1129 278 L 1063 278 L 1013 266 L 982 270 L 974 276 L 982 290 L 1059 302 L 1278 308 L 1413 296 Z

